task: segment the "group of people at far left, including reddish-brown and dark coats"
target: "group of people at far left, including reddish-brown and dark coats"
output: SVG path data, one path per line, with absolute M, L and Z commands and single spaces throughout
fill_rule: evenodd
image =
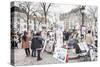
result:
M 18 38 L 17 34 L 13 34 L 11 38 L 11 48 L 18 48 Z M 31 40 L 31 50 L 32 53 L 30 54 L 30 41 Z M 40 57 L 40 53 L 42 50 L 43 44 L 42 44 L 42 38 L 40 32 L 33 33 L 31 38 L 28 36 L 28 32 L 24 31 L 24 34 L 21 37 L 21 48 L 25 50 L 26 57 L 29 57 L 30 55 L 32 57 L 37 57 L 37 60 L 42 60 Z M 37 55 L 37 56 L 36 56 Z

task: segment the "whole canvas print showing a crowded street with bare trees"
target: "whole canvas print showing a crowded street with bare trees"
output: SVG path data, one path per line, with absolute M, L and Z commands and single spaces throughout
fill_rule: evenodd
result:
M 11 2 L 11 65 L 98 60 L 98 7 Z

